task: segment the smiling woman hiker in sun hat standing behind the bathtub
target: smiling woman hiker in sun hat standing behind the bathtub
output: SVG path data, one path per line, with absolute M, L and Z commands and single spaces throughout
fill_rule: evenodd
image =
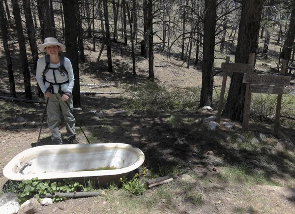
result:
M 60 112 L 66 123 L 67 140 L 71 144 L 77 144 L 76 121 L 68 107 L 73 109 L 72 90 L 75 79 L 71 61 L 61 56 L 65 45 L 59 43 L 58 39 L 54 37 L 48 37 L 44 39 L 44 44 L 39 46 L 39 50 L 48 54 L 38 60 L 36 79 L 46 101 L 48 101 L 47 124 L 52 133 L 53 144 L 62 144 L 59 130 Z

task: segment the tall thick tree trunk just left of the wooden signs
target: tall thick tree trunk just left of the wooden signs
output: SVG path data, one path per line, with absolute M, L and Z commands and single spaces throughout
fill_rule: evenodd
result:
M 211 106 L 213 95 L 213 75 L 216 25 L 216 0 L 205 0 L 204 46 L 202 62 L 202 89 L 200 107 Z

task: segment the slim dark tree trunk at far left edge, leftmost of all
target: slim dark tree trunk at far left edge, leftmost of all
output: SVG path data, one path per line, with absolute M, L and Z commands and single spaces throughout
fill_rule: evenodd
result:
M 3 10 L 4 10 L 3 5 L 0 4 L 0 27 L 1 27 L 1 35 L 2 35 L 2 39 L 3 39 L 3 47 L 4 47 L 6 62 L 7 62 L 10 94 L 12 97 L 16 97 L 14 76 L 13 76 L 13 70 L 12 70 L 12 61 L 11 61 L 11 57 L 10 57 L 10 51 L 8 48 L 8 31 L 7 31 L 6 23 L 4 21 L 4 11 Z

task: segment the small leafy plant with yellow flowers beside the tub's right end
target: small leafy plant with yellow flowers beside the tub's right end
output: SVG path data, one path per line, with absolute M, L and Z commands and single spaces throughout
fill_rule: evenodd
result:
M 143 172 L 143 177 L 146 176 L 146 171 Z M 133 179 L 127 181 L 125 177 L 120 178 L 123 189 L 129 191 L 132 195 L 141 195 L 146 191 L 145 183 L 139 180 L 139 174 L 136 173 Z

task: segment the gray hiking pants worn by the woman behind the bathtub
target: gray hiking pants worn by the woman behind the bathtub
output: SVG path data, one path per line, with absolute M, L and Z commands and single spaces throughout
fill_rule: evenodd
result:
M 47 124 L 52 133 L 52 141 L 62 142 L 59 123 L 61 122 L 61 114 L 63 115 L 64 122 L 66 123 L 66 136 L 67 139 L 75 137 L 75 118 L 70 112 L 68 106 L 62 101 L 59 93 L 54 93 L 49 97 L 47 105 Z M 46 98 L 47 99 L 47 98 Z M 71 95 L 66 101 L 71 109 L 73 109 L 73 96 Z

